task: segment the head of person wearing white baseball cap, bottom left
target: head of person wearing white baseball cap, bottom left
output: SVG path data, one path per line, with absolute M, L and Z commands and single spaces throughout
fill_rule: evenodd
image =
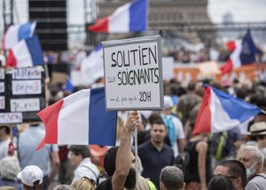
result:
M 18 178 L 24 190 L 41 190 L 43 188 L 43 170 L 38 166 L 29 165 L 21 170 Z

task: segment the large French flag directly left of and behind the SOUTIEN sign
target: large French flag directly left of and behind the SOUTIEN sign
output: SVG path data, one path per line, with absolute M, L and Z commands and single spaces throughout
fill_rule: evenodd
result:
M 37 114 L 45 125 L 45 144 L 115 145 L 116 112 L 106 112 L 105 88 L 77 91 Z

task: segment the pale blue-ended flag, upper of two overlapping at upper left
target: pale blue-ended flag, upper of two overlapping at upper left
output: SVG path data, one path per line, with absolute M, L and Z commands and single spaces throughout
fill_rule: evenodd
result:
M 27 22 L 9 27 L 3 37 L 2 46 L 4 50 L 9 50 L 13 45 L 18 44 L 20 40 L 33 36 L 36 22 Z

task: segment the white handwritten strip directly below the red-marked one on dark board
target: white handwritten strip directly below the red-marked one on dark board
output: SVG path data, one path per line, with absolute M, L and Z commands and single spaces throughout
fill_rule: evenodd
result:
M 40 99 L 11 99 L 12 112 L 32 112 L 40 110 Z

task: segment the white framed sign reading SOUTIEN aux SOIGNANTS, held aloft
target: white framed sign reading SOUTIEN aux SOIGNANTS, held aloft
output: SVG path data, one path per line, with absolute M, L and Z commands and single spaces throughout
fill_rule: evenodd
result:
M 107 110 L 163 108 L 160 36 L 104 42 Z

